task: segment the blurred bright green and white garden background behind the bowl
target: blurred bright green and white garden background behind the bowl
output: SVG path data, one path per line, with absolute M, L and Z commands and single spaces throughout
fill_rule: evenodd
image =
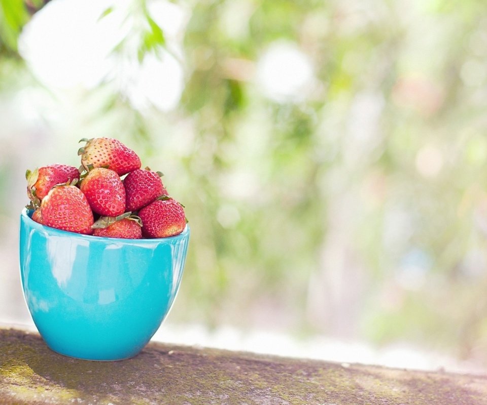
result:
M 156 338 L 487 370 L 482 0 L 0 0 L 0 322 L 24 173 L 115 137 L 192 227 Z

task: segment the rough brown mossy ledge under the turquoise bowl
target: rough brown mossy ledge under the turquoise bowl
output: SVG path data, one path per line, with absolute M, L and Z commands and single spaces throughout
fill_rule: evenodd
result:
M 65 357 L 0 329 L 0 404 L 487 405 L 487 376 L 426 373 L 150 343 L 137 356 Z

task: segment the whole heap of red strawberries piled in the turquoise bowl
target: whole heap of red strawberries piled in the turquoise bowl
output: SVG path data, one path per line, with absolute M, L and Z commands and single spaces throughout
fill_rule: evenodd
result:
M 49 165 L 27 170 L 28 209 L 43 225 L 94 236 L 160 238 L 186 227 L 184 207 L 170 197 L 162 173 L 113 138 L 82 139 L 80 169 Z M 122 179 L 122 176 L 125 176 Z

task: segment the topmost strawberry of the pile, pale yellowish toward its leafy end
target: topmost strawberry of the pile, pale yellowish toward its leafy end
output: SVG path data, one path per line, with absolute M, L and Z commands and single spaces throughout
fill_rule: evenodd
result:
M 140 157 L 117 139 L 84 138 L 81 141 L 85 141 L 86 145 L 78 150 L 78 154 L 81 155 L 81 164 L 86 170 L 90 169 L 90 165 L 95 168 L 106 166 L 123 176 L 141 168 Z

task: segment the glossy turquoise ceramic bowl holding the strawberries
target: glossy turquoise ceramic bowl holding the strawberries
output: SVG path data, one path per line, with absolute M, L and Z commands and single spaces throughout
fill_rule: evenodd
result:
M 54 351 L 87 360 L 137 354 L 179 289 L 190 230 L 160 239 L 81 235 L 20 215 L 20 275 L 39 333 Z

